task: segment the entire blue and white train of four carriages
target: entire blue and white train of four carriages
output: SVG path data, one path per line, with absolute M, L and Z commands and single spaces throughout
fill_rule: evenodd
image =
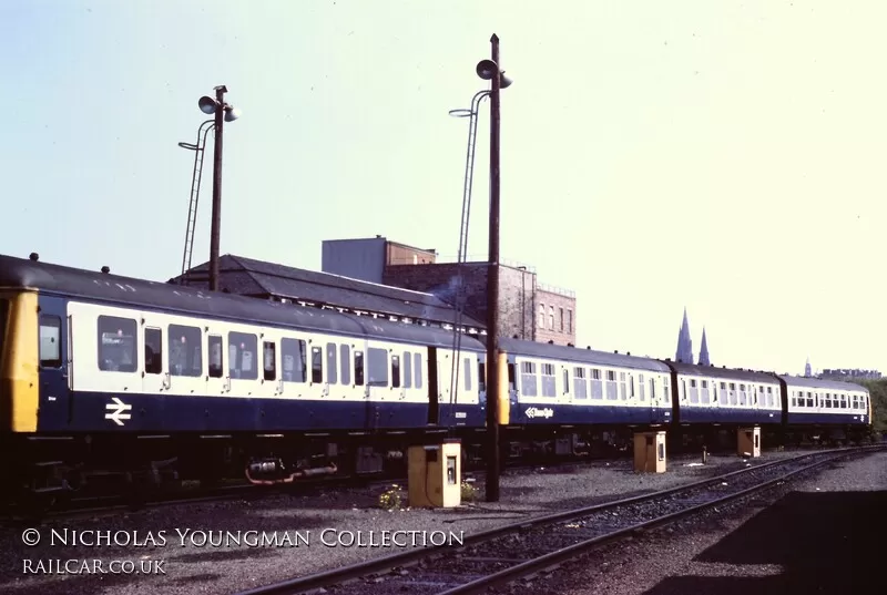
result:
M 858 384 L 485 336 L 0 255 L 0 456 L 22 494 L 378 473 L 458 438 L 482 460 L 581 455 L 633 432 L 860 440 Z M 487 366 L 499 390 L 487 393 Z

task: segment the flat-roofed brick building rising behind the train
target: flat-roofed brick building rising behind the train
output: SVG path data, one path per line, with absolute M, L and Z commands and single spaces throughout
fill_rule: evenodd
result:
M 367 257 L 368 247 L 371 259 Z M 487 263 L 441 263 L 434 250 L 376 236 L 370 240 L 325 240 L 322 267 L 324 273 L 432 294 L 453 305 L 461 276 L 466 315 L 478 321 L 487 320 Z M 574 345 L 575 316 L 573 291 L 540 284 L 532 267 L 500 264 L 501 336 Z

